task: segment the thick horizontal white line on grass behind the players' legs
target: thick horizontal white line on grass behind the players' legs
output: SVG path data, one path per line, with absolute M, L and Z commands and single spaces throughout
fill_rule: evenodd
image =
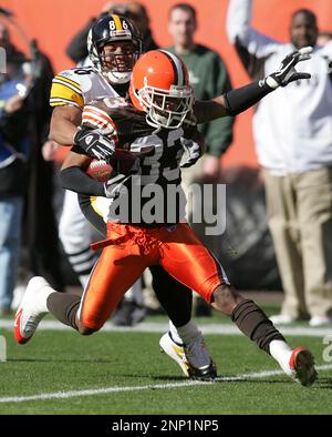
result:
M 199 325 L 199 321 L 198 325 Z M 277 325 L 278 326 L 278 325 Z M 13 321 L 1 321 L 0 328 L 13 329 Z M 203 334 L 216 334 L 216 335 L 243 335 L 235 324 L 205 324 L 199 326 Z M 282 326 L 279 325 L 278 328 L 284 335 L 295 335 L 303 337 L 324 337 L 325 335 L 332 335 L 332 326 L 324 327 L 310 327 L 310 326 Z M 71 329 L 69 326 L 62 325 L 58 321 L 42 321 L 38 331 L 64 331 Z M 104 332 L 133 332 L 133 333 L 165 333 L 168 331 L 167 323 L 156 323 L 156 322 L 143 322 L 133 327 L 125 326 L 114 326 L 112 323 L 107 322 L 103 329 Z M 0 332 L 1 334 L 1 332 Z

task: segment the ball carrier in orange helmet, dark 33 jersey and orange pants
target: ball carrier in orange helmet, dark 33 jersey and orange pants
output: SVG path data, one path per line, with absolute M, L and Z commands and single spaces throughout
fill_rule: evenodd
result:
M 309 49 L 291 53 L 282 61 L 280 69 L 263 81 L 230 91 L 212 102 L 203 104 L 196 113 L 199 114 L 199 111 L 204 112 L 209 108 L 210 118 L 235 114 L 278 87 L 308 78 L 304 73 L 298 73 L 294 65 L 301 60 L 309 59 Z M 156 205 L 162 209 L 168 201 L 173 201 L 168 199 L 169 195 L 174 195 L 173 191 L 170 194 L 168 192 L 169 185 L 175 185 L 176 189 L 180 185 L 180 166 L 193 165 L 203 153 L 201 139 L 190 116 L 194 95 L 188 87 L 185 65 L 176 55 L 165 51 L 146 53 L 134 67 L 129 94 L 133 106 L 137 110 L 135 120 L 142 124 L 144 118 L 147 128 L 144 136 L 129 139 L 129 150 L 134 153 L 139 149 L 142 153 L 139 172 L 117 174 L 106 184 L 102 184 L 104 194 L 112 199 L 115 207 L 112 207 L 112 204 L 110 206 L 107 237 L 100 243 L 104 248 L 83 297 L 80 299 L 77 296 L 61 295 L 41 278 L 33 278 L 17 314 L 17 341 L 27 343 L 48 311 L 82 335 L 98 331 L 127 287 L 143 271 L 151 265 L 162 265 L 172 276 L 199 293 L 214 308 L 230 316 L 245 335 L 273 356 L 286 374 L 293 376 L 302 385 L 310 386 L 317 378 L 312 354 L 303 347 L 292 350 L 262 309 L 231 287 L 221 265 L 183 221 L 183 210 L 178 202 L 176 212 L 172 214 L 173 221 L 166 210 L 157 216 L 154 215 L 153 221 L 149 220 L 151 216 L 146 220 L 144 214 L 144 209 L 152 200 L 146 192 L 143 193 L 145 187 L 153 185 L 162 190 L 164 205 Z M 124 111 L 131 112 L 132 108 L 124 106 Z M 104 111 L 103 115 L 106 118 L 108 114 Z M 122 116 L 129 118 L 128 113 L 122 113 Z M 97 120 L 96 116 L 96 123 Z M 115 146 L 125 145 L 122 144 L 122 139 L 127 132 L 117 129 L 121 121 L 115 116 L 110 118 L 107 124 L 112 131 L 108 132 L 108 141 L 113 144 L 108 152 L 111 156 L 116 157 Z M 152 128 L 151 132 L 148 126 Z M 102 141 L 97 136 L 100 132 L 95 131 L 77 131 L 75 143 L 79 148 L 74 152 L 100 154 L 103 150 Z M 144 155 L 144 148 L 152 144 L 155 146 L 154 152 Z M 187 156 L 180 163 L 184 149 Z M 85 177 L 83 172 L 81 175 Z M 63 177 L 65 187 L 84 193 L 83 179 L 81 181 L 79 184 L 76 177 Z M 137 185 L 138 192 L 135 191 Z M 91 184 L 89 190 L 92 190 Z M 101 194 L 100 190 L 101 185 L 96 189 L 97 195 Z M 135 195 L 141 194 L 142 214 L 137 218 L 135 211 L 131 211 L 128 214 L 120 215 L 120 222 L 115 222 L 116 206 L 124 203 L 133 205 L 128 200 L 132 201 L 134 191 Z

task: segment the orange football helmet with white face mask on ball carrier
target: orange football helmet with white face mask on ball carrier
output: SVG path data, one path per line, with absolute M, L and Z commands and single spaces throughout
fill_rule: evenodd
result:
M 136 109 L 147 112 L 146 122 L 155 128 L 179 128 L 194 104 L 186 65 L 166 50 L 152 50 L 138 59 L 129 95 Z

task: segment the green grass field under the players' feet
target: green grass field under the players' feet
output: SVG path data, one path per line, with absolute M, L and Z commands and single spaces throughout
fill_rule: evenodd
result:
M 208 319 L 220 321 L 220 316 Z M 278 365 L 239 335 L 205 336 L 220 379 L 200 384 L 188 382 L 177 364 L 159 353 L 158 333 L 101 332 L 81 337 L 71 331 L 39 331 L 24 346 L 13 342 L 11 331 L 1 334 L 8 343 L 8 362 L 0 363 L 2 415 L 332 413 L 332 365 L 319 372 L 312 388 L 304 388 L 284 375 L 261 374 L 278 370 Z M 310 347 L 317 364 L 326 366 L 322 338 L 289 339 L 293 347 Z M 227 380 L 241 375 L 247 376 Z M 59 393 L 68 397 L 50 396 Z M 44 398 L 24 398 L 41 394 Z M 8 397 L 12 399 L 3 402 Z

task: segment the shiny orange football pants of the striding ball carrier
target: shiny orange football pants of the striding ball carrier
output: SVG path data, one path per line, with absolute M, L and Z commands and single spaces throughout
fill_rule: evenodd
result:
M 228 280 L 220 264 L 197 238 L 187 223 L 146 228 L 107 223 L 105 246 L 84 291 L 79 318 L 100 329 L 124 293 L 146 267 L 160 264 L 172 276 L 196 291 L 208 303 Z

